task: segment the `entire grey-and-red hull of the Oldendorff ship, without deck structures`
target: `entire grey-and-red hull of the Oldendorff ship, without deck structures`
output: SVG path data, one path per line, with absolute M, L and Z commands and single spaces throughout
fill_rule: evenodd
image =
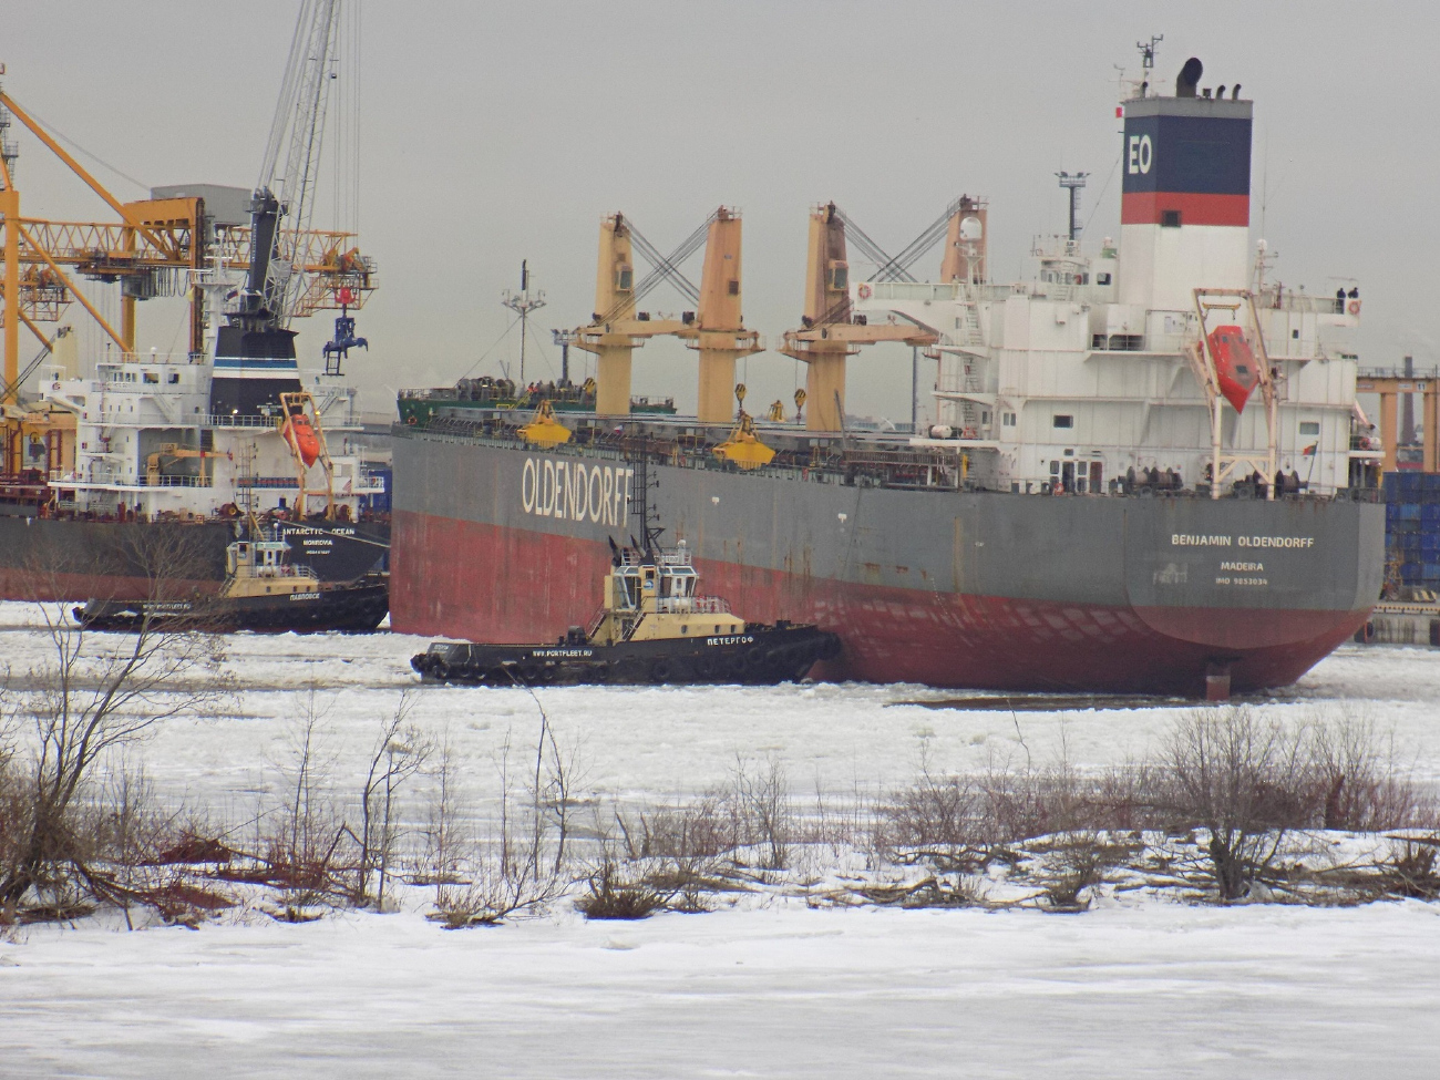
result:
M 606 537 L 639 531 L 616 454 L 399 428 L 392 625 L 478 642 L 585 624 Z M 1295 681 L 1365 622 L 1384 507 L 851 487 L 652 465 L 667 541 L 749 619 L 815 622 L 827 674 L 1015 691 Z

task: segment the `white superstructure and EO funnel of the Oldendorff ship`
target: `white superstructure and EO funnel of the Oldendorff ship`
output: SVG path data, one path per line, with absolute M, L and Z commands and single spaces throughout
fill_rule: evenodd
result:
M 1103 491 L 1132 469 L 1169 469 L 1194 487 L 1231 456 L 1309 491 L 1367 475 L 1374 485 L 1381 452 L 1355 402 L 1358 291 L 1266 281 L 1264 242 L 1248 240 L 1251 102 L 1185 91 L 1182 75 L 1176 96 L 1142 91 L 1125 104 L 1119 245 L 1037 242 L 1030 279 L 1009 285 L 956 275 L 851 287 L 871 323 L 903 318 L 939 334 L 939 423 L 916 442 L 960 448 L 982 487 Z M 969 223 L 981 261 L 982 228 Z M 1244 328 L 1257 360 L 1269 357 L 1273 458 L 1260 387 L 1243 413 L 1218 406 L 1217 454 L 1204 338 L 1227 323 Z M 1250 462 L 1221 471 L 1227 484 L 1244 475 Z

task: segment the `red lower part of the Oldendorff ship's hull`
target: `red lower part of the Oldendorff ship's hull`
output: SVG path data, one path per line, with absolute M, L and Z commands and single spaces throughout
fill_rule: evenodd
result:
M 392 624 L 480 642 L 544 641 L 595 613 L 609 550 L 588 539 L 395 516 Z M 747 619 L 816 622 L 845 642 L 827 678 L 935 687 L 1182 694 L 1233 649 L 1231 688 L 1293 683 L 1362 611 L 1056 603 L 900 589 L 696 560 Z M 1143 657 L 1143 662 L 1138 662 Z

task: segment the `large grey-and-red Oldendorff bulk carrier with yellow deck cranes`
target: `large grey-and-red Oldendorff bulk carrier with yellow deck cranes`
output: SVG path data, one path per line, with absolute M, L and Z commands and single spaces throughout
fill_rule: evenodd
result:
M 1198 81 L 1191 60 L 1175 96 L 1123 102 L 1119 243 L 1037 245 L 1028 282 L 989 282 L 981 200 L 952 206 L 939 282 L 850 281 L 845 217 L 816 209 L 779 350 L 806 363 L 802 422 L 732 432 L 734 360 L 759 350 L 739 219 L 711 217 L 698 310 L 665 321 L 636 312 L 629 228 L 608 217 L 577 331 L 593 416 L 521 431 L 528 413 L 402 395 L 395 628 L 586 624 L 609 540 L 644 534 L 644 458 L 649 505 L 716 592 L 841 636 L 828 677 L 1212 697 L 1296 680 L 1381 586 L 1378 452 L 1352 438 L 1359 301 L 1266 284 L 1253 104 Z M 626 415 L 631 350 L 658 333 L 698 353 L 696 419 Z M 929 432 L 847 429 L 847 357 L 877 341 L 937 359 Z

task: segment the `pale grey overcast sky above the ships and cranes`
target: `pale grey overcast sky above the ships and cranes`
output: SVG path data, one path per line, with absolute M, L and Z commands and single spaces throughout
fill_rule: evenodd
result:
M 0 60 L 22 105 L 144 184 L 255 183 L 297 0 L 14 9 Z M 1097 246 L 1119 220 L 1116 66 L 1135 76 L 1135 42 L 1152 33 L 1165 35 L 1164 85 L 1194 55 L 1202 85 L 1240 82 L 1256 101 L 1251 239 L 1279 252 L 1277 275 L 1331 294 L 1358 279 L 1362 360 L 1411 351 L 1433 364 L 1437 10 L 367 0 L 360 230 L 382 287 L 359 315 L 372 350 L 350 370 L 383 409 L 393 387 L 514 363 L 517 333 L 494 344 L 511 318 L 500 292 L 528 258 L 549 294 L 537 370 L 557 372 L 549 328 L 588 318 L 598 223 L 615 210 L 670 251 L 717 204 L 740 207 L 746 321 L 772 341 L 798 321 L 815 202 L 834 199 L 894 252 L 949 199 L 984 194 L 991 276 L 1012 281 L 1031 238 L 1064 225 L 1054 173 L 1087 170 L 1084 239 Z M 13 134 L 26 216 L 107 216 L 27 132 Z M 145 194 L 95 168 L 121 199 Z M 315 228 L 327 213 L 323 202 Z M 698 281 L 698 255 L 688 269 Z M 917 269 L 935 276 L 939 251 Z M 652 295 L 657 311 L 683 307 Z M 170 348 L 179 318 L 174 304 L 141 305 L 140 346 Z M 308 320 L 302 347 L 318 357 L 330 330 L 328 315 Z M 896 347 L 851 360 L 850 409 L 909 419 L 909 369 Z M 788 400 L 804 373 L 769 353 L 746 377 L 749 405 L 763 406 Z M 636 353 L 636 393 L 693 408 L 694 386 L 681 346 Z

